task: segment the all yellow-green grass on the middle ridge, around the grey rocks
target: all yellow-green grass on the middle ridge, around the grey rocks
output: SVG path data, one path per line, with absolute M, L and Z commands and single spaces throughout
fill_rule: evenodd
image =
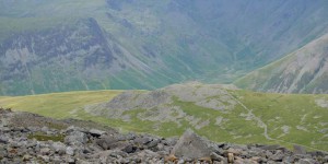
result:
M 92 113 L 84 110 L 85 105 L 108 102 L 121 92 L 124 91 L 83 91 L 32 96 L 7 96 L 0 97 L 0 106 L 52 118 L 93 120 L 122 131 L 147 132 L 162 137 L 179 136 L 187 128 L 192 127 L 185 118 L 180 118 L 180 127 L 172 121 L 141 120 L 137 116 L 147 113 L 145 109 L 126 112 L 131 116 L 130 121 L 93 116 Z M 191 102 L 181 102 L 177 98 L 174 98 L 174 105 L 179 106 L 184 113 L 190 116 L 209 120 L 209 126 L 194 130 L 218 142 L 278 143 L 288 148 L 292 148 L 293 144 L 302 144 L 309 150 L 328 150 L 327 132 L 320 132 L 323 129 L 328 129 L 328 108 L 316 104 L 317 99 L 328 101 L 328 95 L 273 94 L 245 90 L 229 92 L 268 126 L 268 134 L 274 140 L 267 140 L 263 136 L 263 129 L 258 127 L 256 121 L 246 120 L 242 116 L 242 114 L 248 113 L 242 105 L 236 105 L 231 113 L 199 107 Z M 216 126 L 216 117 L 223 117 L 229 121 Z M 290 127 L 288 133 L 283 132 L 283 126 Z M 305 130 L 297 129 L 298 126 L 305 128 Z

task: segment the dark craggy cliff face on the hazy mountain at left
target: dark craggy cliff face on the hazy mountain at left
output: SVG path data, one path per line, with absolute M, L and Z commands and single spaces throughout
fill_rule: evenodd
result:
M 2 94 L 87 90 L 90 70 L 114 67 L 109 46 L 94 19 L 14 35 L 0 48 Z

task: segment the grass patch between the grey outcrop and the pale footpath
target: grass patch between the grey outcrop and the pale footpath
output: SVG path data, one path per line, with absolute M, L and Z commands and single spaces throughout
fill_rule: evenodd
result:
M 210 140 L 234 143 L 268 143 L 265 137 L 261 136 L 261 128 L 257 127 L 254 121 L 247 121 L 239 116 L 239 114 L 244 112 L 241 107 L 236 107 L 231 113 L 225 114 L 220 110 L 199 107 L 190 102 L 181 102 L 177 98 L 175 98 L 174 104 L 180 106 L 186 114 L 200 118 L 202 121 L 210 120 L 208 126 L 194 129 Z M 219 116 L 226 119 L 221 126 L 215 125 L 215 119 Z M 186 126 L 186 128 L 187 127 L 191 127 L 191 125 Z

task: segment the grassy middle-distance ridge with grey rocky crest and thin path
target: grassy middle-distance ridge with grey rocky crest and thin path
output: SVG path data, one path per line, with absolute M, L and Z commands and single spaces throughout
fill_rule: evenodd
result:
M 255 93 L 200 83 L 119 93 L 0 97 L 0 106 L 162 137 L 179 136 L 191 128 L 218 142 L 328 150 L 327 95 Z

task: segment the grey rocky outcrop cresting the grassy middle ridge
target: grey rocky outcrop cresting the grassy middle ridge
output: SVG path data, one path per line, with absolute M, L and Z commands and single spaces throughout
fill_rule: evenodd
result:
M 209 126 L 210 121 L 185 113 L 181 106 L 177 105 L 178 102 L 186 102 L 201 108 L 226 114 L 237 105 L 237 102 L 230 96 L 226 89 L 236 90 L 232 85 L 188 82 L 154 91 L 127 91 L 107 103 L 89 105 L 84 109 L 91 115 L 125 121 L 130 121 L 133 117 L 129 112 L 145 109 L 137 115 L 138 119 L 156 122 L 173 121 L 180 126 L 183 118 L 192 128 L 201 129 Z

